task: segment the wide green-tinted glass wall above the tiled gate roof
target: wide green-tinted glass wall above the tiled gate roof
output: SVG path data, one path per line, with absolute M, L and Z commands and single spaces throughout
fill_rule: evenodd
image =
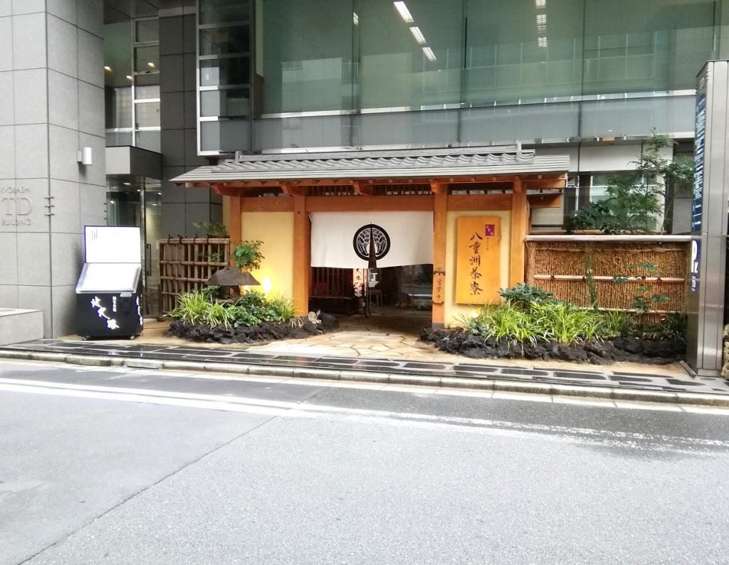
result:
M 203 127 L 203 152 L 688 132 L 695 74 L 729 44 L 701 0 L 200 0 L 199 17 L 200 119 L 249 112 L 234 135 Z

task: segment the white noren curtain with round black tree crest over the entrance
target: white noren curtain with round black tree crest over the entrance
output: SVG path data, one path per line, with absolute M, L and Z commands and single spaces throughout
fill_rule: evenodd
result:
M 311 266 L 367 268 L 370 239 L 378 267 L 433 262 L 432 212 L 314 212 Z

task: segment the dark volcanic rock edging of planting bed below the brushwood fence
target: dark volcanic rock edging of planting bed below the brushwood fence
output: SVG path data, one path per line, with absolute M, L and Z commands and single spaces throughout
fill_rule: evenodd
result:
M 468 334 L 461 328 L 432 330 L 424 327 L 420 338 L 441 351 L 471 359 L 542 359 L 593 365 L 607 365 L 617 361 L 662 365 L 684 359 L 686 351 L 686 344 L 681 340 L 638 340 L 624 337 L 569 345 L 552 341 L 521 343 L 515 340 L 482 338 Z

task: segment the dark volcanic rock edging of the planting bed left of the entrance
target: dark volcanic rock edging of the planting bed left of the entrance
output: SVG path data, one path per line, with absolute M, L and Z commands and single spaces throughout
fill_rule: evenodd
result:
M 198 342 L 230 345 L 230 343 L 261 343 L 311 338 L 312 335 L 330 332 L 339 327 L 339 322 L 334 316 L 321 314 L 320 319 L 320 324 L 313 324 L 308 319 L 304 319 L 303 325 L 300 326 L 289 324 L 289 322 L 262 322 L 257 326 L 227 328 L 225 326 L 208 327 L 204 324 L 187 324 L 181 320 L 173 320 L 165 335 Z

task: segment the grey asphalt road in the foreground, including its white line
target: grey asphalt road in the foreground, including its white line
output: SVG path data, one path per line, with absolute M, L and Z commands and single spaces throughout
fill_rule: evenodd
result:
M 729 417 L 420 390 L 0 362 L 0 563 L 729 562 Z

